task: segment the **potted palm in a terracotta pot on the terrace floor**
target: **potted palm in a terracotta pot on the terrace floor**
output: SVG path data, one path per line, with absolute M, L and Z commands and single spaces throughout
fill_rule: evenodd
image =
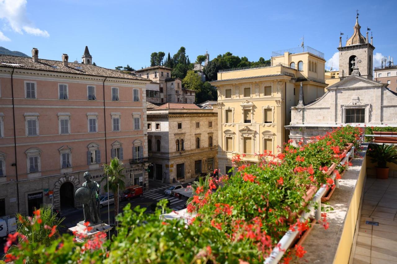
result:
M 389 167 L 387 163 L 397 164 L 397 150 L 394 145 L 371 145 L 368 151 L 372 163 L 378 163 L 376 166 L 376 178 L 387 179 L 389 177 Z

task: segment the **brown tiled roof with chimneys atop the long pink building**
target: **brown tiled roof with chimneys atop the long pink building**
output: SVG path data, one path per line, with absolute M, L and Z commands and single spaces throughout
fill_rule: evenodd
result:
M 27 57 L 0 54 L 0 67 L 150 81 L 150 79 L 121 73 L 119 71 L 114 71 L 91 64 L 68 62 L 67 65 L 68 66 L 65 67 L 62 61 L 39 59 L 39 62 L 34 62 L 31 58 Z

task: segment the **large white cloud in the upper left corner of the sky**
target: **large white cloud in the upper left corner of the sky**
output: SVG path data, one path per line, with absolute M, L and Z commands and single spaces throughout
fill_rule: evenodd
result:
M 19 34 L 23 34 L 24 31 L 34 36 L 50 36 L 47 31 L 33 26 L 27 18 L 26 4 L 27 0 L 0 0 L 0 19 L 6 21 L 10 28 Z

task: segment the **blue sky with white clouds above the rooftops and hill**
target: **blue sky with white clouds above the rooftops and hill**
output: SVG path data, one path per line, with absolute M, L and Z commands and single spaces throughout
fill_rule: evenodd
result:
M 359 3 L 359 4 L 358 4 Z M 81 61 L 89 47 L 98 66 L 150 65 L 150 54 L 175 54 L 184 46 L 191 61 L 229 51 L 249 60 L 304 44 L 337 63 L 339 32 L 351 36 L 358 9 L 361 33 L 374 36 L 374 65 L 397 59 L 395 1 L 132 1 L 0 0 L 0 46 L 39 57 Z M 327 64 L 328 68 L 330 62 Z

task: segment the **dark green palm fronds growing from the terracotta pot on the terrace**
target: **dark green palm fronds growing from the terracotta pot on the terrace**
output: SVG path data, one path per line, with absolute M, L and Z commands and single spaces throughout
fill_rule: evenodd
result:
M 368 156 L 371 157 L 372 163 L 378 163 L 378 168 L 387 168 L 387 163 L 397 164 L 397 149 L 394 145 L 371 144 L 368 147 Z

